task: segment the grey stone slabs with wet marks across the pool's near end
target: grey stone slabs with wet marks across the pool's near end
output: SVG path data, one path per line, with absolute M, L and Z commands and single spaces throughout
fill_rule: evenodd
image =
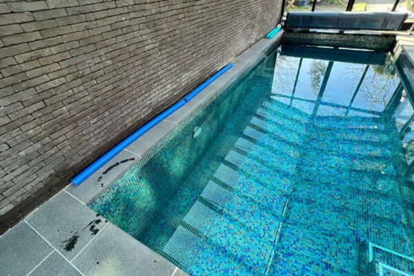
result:
M 1 275 L 185 275 L 66 190 L 0 237 Z

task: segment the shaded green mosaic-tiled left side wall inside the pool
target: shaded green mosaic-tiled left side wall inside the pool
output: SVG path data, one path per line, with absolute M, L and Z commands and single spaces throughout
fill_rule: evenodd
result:
M 271 70 L 275 59 L 267 60 Z M 242 83 L 230 84 L 197 109 L 90 207 L 106 214 L 113 224 L 140 239 L 181 188 L 225 121 L 239 108 L 249 91 L 246 87 L 251 87 L 253 81 L 257 83 L 253 75 L 259 75 L 262 68 L 264 66 L 246 72 L 241 76 Z

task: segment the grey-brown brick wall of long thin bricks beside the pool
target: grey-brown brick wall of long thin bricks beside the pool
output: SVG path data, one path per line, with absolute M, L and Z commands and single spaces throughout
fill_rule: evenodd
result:
M 282 0 L 0 0 L 0 233 L 264 37 Z

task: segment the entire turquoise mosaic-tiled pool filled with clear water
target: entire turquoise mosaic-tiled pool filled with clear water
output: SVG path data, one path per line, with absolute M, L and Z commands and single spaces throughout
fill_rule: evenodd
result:
M 282 45 L 91 208 L 189 275 L 413 275 L 413 112 L 390 55 Z

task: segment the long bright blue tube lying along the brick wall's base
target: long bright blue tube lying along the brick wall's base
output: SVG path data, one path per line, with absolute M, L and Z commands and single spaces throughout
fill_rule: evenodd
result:
M 170 116 L 172 113 L 174 113 L 176 110 L 184 106 L 190 99 L 193 99 L 201 90 L 206 88 L 210 83 L 215 81 L 218 77 L 224 74 L 228 69 L 232 68 L 233 64 L 229 63 L 224 68 L 221 68 L 218 72 L 215 73 L 212 77 L 204 81 L 204 83 L 201 83 L 200 86 L 197 86 L 195 90 L 190 92 L 184 99 L 181 99 L 181 101 L 175 103 L 173 106 L 162 112 L 160 115 L 152 119 L 151 121 L 148 121 L 147 124 L 136 130 L 135 132 L 132 132 L 131 135 L 126 137 L 124 140 L 122 140 L 117 146 L 110 149 L 108 152 L 106 152 L 104 155 L 99 157 L 99 159 L 95 160 L 92 164 L 90 164 L 88 167 L 86 167 L 84 170 L 79 172 L 78 175 L 72 178 L 72 184 L 75 186 L 79 186 L 85 179 L 90 177 L 92 173 L 96 172 L 101 168 L 101 166 L 105 165 L 110 159 L 115 157 L 119 152 L 124 150 L 127 146 L 132 144 L 136 139 L 144 135 L 145 132 L 156 126 L 160 121 L 166 119 L 166 117 Z

